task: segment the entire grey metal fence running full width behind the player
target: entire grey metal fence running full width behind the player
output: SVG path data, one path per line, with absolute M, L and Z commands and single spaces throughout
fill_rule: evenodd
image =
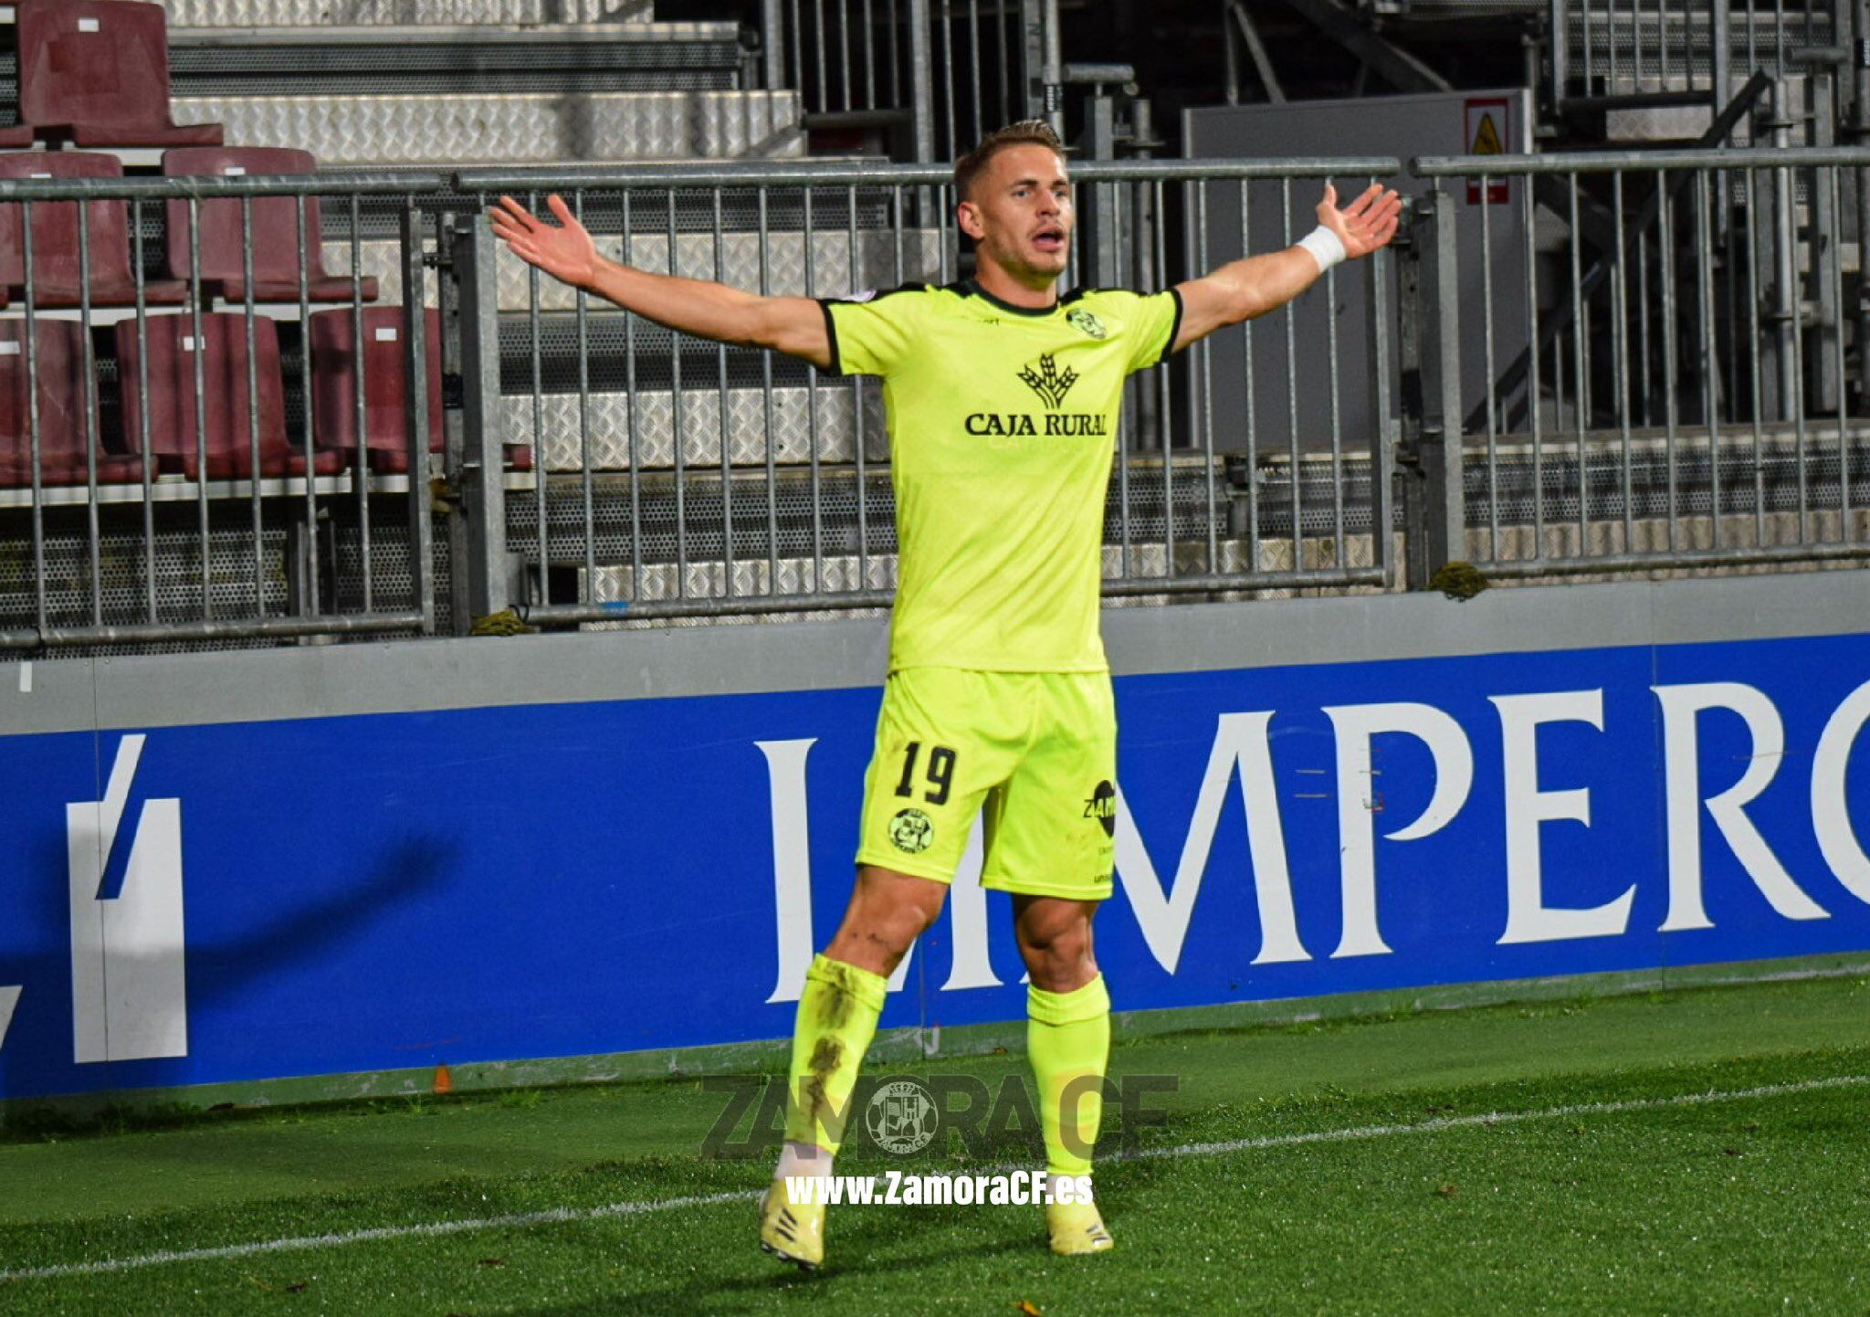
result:
M 1457 559 L 1513 578 L 1870 554 L 1870 324 L 1848 296 L 1870 152 L 1414 170 L 1434 191 L 1399 260 L 1331 271 L 1129 380 L 1109 597 L 1382 589 L 1404 556 L 1425 586 Z M 1163 288 L 1283 249 L 1324 180 L 1352 195 L 1395 172 L 1079 166 L 1066 286 Z M 939 166 L 4 181 L 0 256 L 7 223 L 21 251 L 13 275 L 0 258 L 19 279 L 0 316 L 0 647 L 464 630 L 509 606 L 634 625 L 888 604 L 879 384 L 542 279 L 481 211 L 554 191 L 606 254 L 752 292 L 967 275 Z M 204 264 L 230 219 L 234 282 Z M 267 290 L 280 247 L 290 282 Z M 320 299 L 352 344 L 381 312 L 318 279 L 318 251 L 385 301 L 439 303 L 439 342 L 404 316 L 391 357 L 346 372 L 312 342 Z

